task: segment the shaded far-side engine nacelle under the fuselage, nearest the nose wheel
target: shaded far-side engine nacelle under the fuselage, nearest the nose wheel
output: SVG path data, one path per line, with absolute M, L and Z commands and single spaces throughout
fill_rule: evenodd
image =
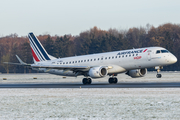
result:
M 132 78 L 144 77 L 147 74 L 147 69 L 143 68 L 143 69 L 130 70 L 126 74 L 131 76 Z

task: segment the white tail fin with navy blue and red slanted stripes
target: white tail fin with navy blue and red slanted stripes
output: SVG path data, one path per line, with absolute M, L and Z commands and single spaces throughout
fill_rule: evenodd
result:
M 55 57 L 50 56 L 38 38 L 33 34 L 29 33 L 28 34 L 29 41 L 30 41 L 30 46 L 31 46 L 31 51 L 33 55 L 34 62 L 41 62 L 41 61 L 47 61 L 47 60 L 52 60 L 56 59 Z

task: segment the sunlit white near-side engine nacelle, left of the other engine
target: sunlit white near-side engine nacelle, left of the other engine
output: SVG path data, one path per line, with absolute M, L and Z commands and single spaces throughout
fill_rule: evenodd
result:
M 105 67 L 93 67 L 89 70 L 88 74 L 92 78 L 101 78 L 105 77 L 108 71 Z

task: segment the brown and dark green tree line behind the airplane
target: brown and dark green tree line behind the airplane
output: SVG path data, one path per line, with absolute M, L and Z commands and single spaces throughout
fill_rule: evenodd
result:
M 128 30 L 101 30 L 95 26 L 77 36 L 39 35 L 37 37 L 47 52 L 57 58 L 160 46 L 180 59 L 180 24 L 166 23 L 158 27 L 147 24 L 145 27 L 133 27 Z M 0 72 L 34 72 L 22 66 L 2 64 L 18 62 L 15 55 L 26 63 L 33 63 L 28 37 L 18 37 L 16 33 L 1 37 Z M 179 71 L 180 62 L 165 66 L 163 70 Z

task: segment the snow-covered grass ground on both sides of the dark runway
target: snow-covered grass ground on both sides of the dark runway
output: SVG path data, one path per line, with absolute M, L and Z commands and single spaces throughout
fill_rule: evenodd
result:
M 176 81 L 179 73 L 163 73 L 155 78 L 150 73 L 144 78 L 120 76 L 123 82 Z M 62 79 L 49 74 L 0 75 L 16 82 L 81 82 L 81 78 Z M 37 77 L 38 79 L 32 79 Z M 152 81 L 151 81 L 152 80 Z M 105 82 L 106 79 L 95 80 Z M 121 82 L 122 82 L 121 81 Z M 180 81 L 180 80 L 179 80 Z M 179 119 L 180 88 L 55 88 L 55 89 L 0 89 L 0 120 L 7 119 Z

